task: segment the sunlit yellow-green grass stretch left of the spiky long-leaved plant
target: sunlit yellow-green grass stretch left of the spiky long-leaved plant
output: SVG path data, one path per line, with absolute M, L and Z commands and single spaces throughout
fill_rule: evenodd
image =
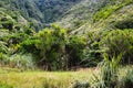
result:
M 2 69 L 0 72 L 3 72 Z M 79 72 L 3 72 L 0 85 L 3 88 L 72 88 L 78 81 L 89 81 L 92 69 Z M 0 87 L 2 88 L 2 87 Z

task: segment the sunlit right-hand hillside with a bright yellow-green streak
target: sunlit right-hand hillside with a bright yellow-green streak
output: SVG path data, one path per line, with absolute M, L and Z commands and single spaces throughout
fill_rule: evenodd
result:
M 119 23 L 132 20 L 132 0 L 84 0 L 73 6 L 58 23 L 74 30 L 72 33 L 99 29 L 119 29 L 116 28 Z

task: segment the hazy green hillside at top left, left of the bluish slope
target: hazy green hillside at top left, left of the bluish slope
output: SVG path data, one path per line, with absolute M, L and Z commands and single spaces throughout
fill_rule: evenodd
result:
M 22 20 L 22 22 L 33 23 L 37 30 L 43 26 L 41 23 L 43 16 L 32 0 L 1 0 L 0 9 L 19 22 Z

